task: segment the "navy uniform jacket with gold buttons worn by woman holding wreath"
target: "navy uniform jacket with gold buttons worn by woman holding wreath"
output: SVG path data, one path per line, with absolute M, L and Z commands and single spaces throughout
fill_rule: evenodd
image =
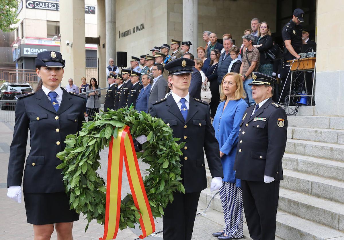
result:
M 64 150 L 63 141 L 68 134 L 81 130 L 86 100 L 63 89 L 62 102 L 56 112 L 42 89 L 18 97 L 7 187 L 21 186 L 25 166 L 23 192 L 64 192 L 62 169 L 56 169 L 62 161 L 56 154 Z M 25 164 L 29 130 L 31 149 Z

